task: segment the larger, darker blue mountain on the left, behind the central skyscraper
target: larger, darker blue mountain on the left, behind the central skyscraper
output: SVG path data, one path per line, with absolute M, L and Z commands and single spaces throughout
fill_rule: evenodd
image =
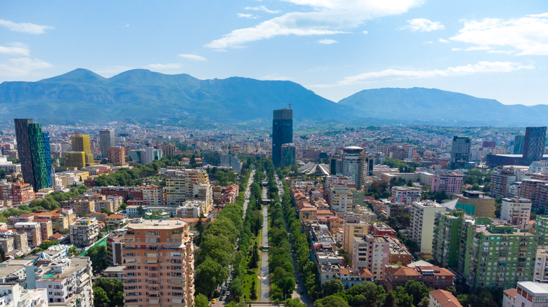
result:
M 15 117 L 91 121 L 117 118 L 209 118 L 250 121 L 272 118 L 292 103 L 296 118 L 337 120 L 346 116 L 335 102 L 291 81 L 247 78 L 199 80 L 133 69 L 106 79 L 86 69 L 37 82 L 0 84 L 0 114 Z M 350 108 L 348 108 L 350 109 Z

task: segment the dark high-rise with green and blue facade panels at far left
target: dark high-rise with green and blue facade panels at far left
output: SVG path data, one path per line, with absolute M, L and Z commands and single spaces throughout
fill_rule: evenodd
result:
M 39 123 L 32 123 L 29 118 L 15 118 L 15 137 L 17 150 L 21 161 L 23 179 L 34 191 L 51 186 L 51 156 L 46 157 L 46 142 L 44 132 Z M 49 146 L 48 146 L 49 151 Z

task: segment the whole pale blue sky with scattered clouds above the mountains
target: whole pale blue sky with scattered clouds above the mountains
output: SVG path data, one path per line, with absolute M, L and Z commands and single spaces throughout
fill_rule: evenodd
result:
M 0 82 L 85 68 L 548 104 L 548 1 L 0 1 Z

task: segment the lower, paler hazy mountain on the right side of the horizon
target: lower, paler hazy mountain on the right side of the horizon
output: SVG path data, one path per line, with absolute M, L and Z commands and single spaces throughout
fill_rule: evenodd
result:
M 435 88 L 362 90 L 339 101 L 359 115 L 438 125 L 547 125 L 548 105 L 505 105 Z

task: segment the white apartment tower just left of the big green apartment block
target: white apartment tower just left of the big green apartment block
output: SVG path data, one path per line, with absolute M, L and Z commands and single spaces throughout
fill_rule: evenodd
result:
M 447 210 L 432 200 L 415 201 L 411 207 L 411 239 L 421 248 L 422 254 L 431 254 L 433 223 L 436 212 Z

